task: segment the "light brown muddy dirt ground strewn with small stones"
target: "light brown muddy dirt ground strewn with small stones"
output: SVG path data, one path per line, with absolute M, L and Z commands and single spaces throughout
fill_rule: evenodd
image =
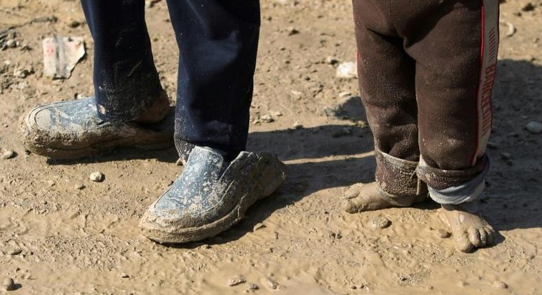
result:
M 542 134 L 526 130 L 542 121 L 542 1 L 528 3 L 501 7 L 515 33 L 507 36 L 503 23 L 493 169 L 480 200 L 498 243 L 463 254 L 438 237 L 435 203 L 340 210 L 344 188 L 370 182 L 375 169 L 357 82 L 335 78 L 336 66 L 325 62 L 355 60 L 349 0 L 262 0 L 249 150 L 278 154 L 290 177 L 241 224 L 182 247 L 137 230 L 182 169 L 173 148 L 80 162 L 25 152 L 17 132 L 27 110 L 93 92 L 93 40 L 78 1 L 1 0 L 0 31 L 16 26 L 8 37 L 18 44 L 0 50 L 0 148 L 16 152 L 0 159 L 0 279 L 14 279 L 14 294 L 542 294 Z M 147 19 L 174 99 L 178 49 L 164 1 Z M 41 40 L 54 34 L 86 42 L 86 58 L 67 80 L 43 75 Z M 95 171 L 104 182 L 89 180 Z M 377 216 L 391 226 L 371 229 Z M 246 283 L 228 286 L 237 276 Z M 259 290 L 248 290 L 251 283 Z

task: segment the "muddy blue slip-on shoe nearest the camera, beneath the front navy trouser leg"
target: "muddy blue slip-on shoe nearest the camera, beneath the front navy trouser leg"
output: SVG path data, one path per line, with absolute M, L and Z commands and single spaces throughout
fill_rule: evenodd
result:
M 154 202 L 139 224 L 160 243 L 187 243 L 213 237 L 236 224 L 252 204 L 270 196 L 285 180 L 276 156 L 241 152 L 227 163 L 207 147 L 194 147 L 185 169 Z

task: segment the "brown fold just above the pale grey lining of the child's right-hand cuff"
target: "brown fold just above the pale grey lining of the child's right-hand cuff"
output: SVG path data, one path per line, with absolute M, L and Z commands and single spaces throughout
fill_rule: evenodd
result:
M 422 159 L 416 173 L 429 187 L 433 189 L 447 189 L 462 185 L 478 176 L 480 172 L 484 171 L 486 162 L 487 156 L 484 155 L 473 167 L 461 170 L 445 170 L 431 167 Z

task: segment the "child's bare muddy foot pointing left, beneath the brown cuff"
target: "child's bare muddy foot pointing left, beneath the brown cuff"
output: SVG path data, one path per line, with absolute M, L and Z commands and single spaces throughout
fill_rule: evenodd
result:
M 342 209 L 348 213 L 373 211 L 390 207 L 409 207 L 422 202 L 426 196 L 394 196 L 383 191 L 377 182 L 358 183 L 346 189 Z

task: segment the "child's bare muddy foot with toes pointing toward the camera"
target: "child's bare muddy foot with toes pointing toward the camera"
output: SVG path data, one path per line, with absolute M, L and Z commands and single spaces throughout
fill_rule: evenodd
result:
M 442 205 L 440 218 L 451 229 L 456 248 L 461 252 L 472 252 L 493 244 L 495 230 L 478 214 L 473 203 Z

